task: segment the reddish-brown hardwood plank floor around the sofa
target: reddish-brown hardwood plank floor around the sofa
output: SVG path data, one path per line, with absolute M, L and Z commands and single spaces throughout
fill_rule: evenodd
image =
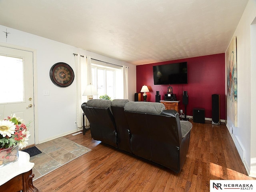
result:
M 207 192 L 210 180 L 254 179 L 247 176 L 224 123 L 193 123 L 179 174 L 105 146 L 93 140 L 90 131 L 65 138 L 92 151 L 35 180 L 40 192 Z

